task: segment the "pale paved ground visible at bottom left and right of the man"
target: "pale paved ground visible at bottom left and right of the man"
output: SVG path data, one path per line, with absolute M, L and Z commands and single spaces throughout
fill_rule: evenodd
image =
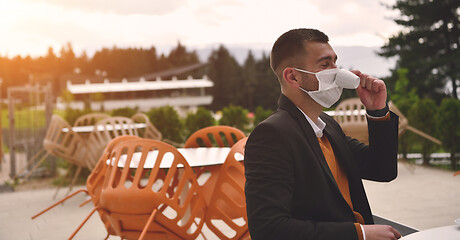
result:
M 460 218 L 460 176 L 454 177 L 449 171 L 399 164 L 397 180 L 365 182 L 365 187 L 374 214 L 419 230 L 454 225 L 454 220 Z M 81 194 L 31 220 L 32 215 L 53 203 L 54 191 L 45 188 L 0 193 L 0 239 L 67 239 L 92 206 L 78 207 L 86 199 Z M 65 191 L 60 193 L 62 197 Z M 105 236 L 104 226 L 95 214 L 74 239 Z

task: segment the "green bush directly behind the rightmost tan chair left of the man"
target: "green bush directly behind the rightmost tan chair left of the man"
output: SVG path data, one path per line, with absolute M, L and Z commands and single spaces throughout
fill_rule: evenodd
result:
M 183 126 L 177 111 L 171 106 L 151 109 L 147 112 L 150 121 L 158 128 L 163 138 L 177 143 L 183 141 Z

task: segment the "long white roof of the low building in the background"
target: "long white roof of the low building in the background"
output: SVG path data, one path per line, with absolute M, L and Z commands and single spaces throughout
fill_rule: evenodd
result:
M 203 76 L 202 79 L 192 79 L 192 77 L 189 77 L 184 80 L 178 80 L 173 77 L 172 80 L 167 81 L 161 80 L 160 78 L 157 78 L 155 81 L 146 81 L 145 78 L 140 78 L 139 81 L 136 82 L 130 82 L 126 79 L 123 79 L 121 82 L 104 80 L 103 83 L 91 83 L 90 81 L 86 81 L 84 84 L 72 84 L 70 81 L 67 81 L 67 89 L 72 94 L 173 90 L 208 88 L 213 86 L 214 83 L 207 76 Z

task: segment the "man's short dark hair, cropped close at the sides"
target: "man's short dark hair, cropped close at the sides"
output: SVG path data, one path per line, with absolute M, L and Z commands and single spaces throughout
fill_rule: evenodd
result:
M 281 35 L 273 44 L 270 54 L 270 65 L 275 72 L 283 61 L 288 58 L 305 56 L 304 44 L 306 41 L 329 42 L 329 37 L 316 29 L 292 29 Z

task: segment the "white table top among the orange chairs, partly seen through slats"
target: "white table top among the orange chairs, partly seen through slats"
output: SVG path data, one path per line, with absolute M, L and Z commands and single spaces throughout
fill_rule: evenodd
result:
M 230 148 L 229 147 L 209 147 L 209 148 L 178 148 L 177 149 L 187 160 L 190 167 L 202 167 L 211 165 L 221 165 L 225 162 Z M 130 168 L 137 168 L 139 165 L 141 153 L 134 153 L 130 162 Z M 147 155 L 144 163 L 144 168 L 153 168 L 156 159 L 158 158 L 158 151 L 151 151 Z M 235 154 L 235 159 L 242 161 L 243 155 L 240 153 Z M 165 154 L 161 161 L 160 168 L 170 168 L 173 162 L 173 154 Z M 110 160 L 107 160 L 109 164 Z M 112 160 L 114 161 L 114 159 Z M 118 167 L 124 167 L 126 163 L 126 155 L 120 156 Z

